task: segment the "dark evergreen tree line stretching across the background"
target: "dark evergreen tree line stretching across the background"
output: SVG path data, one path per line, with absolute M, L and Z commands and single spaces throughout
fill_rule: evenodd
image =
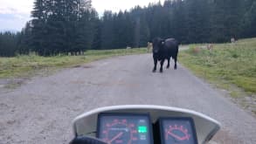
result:
M 182 44 L 222 43 L 256 36 L 254 0 L 166 0 L 107 10 L 102 17 L 91 0 L 36 0 L 31 21 L 17 33 L 0 33 L 0 56 L 59 53 L 146 46 L 153 38 Z

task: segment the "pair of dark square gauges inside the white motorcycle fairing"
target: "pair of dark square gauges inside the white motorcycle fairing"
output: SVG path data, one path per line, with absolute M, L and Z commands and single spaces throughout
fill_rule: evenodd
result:
M 191 118 L 160 118 L 152 124 L 146 113 L 100 113 L 97 138 L 108 144 L 197 144 Z

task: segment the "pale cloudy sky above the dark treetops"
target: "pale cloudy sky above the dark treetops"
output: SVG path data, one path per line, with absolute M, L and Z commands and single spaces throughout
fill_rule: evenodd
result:
M 163 0 L 161 0 L 163 1 Z M 21 31 L 31 19 L 34 0 L 0 0 L 0 31 Z M 99 14 L 104 10 L 129 10 L 135 5 L 148 6 L 159 0 L 93 0 L 93 8 Z

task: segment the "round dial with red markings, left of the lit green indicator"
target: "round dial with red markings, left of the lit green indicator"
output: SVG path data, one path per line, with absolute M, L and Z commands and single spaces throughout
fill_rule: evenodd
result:
M 133 141 L 137 141 L 135 124 L 128 123 L 127 120 L 114 120 L 106 123 L 102 133 L 102 140 L 111 144 L 131 144 Z

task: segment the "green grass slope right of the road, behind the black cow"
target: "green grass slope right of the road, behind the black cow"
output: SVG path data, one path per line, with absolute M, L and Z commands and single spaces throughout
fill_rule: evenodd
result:
M 212 51 L 190 45 L 190 50 L 181 52 L 180 61 L 219 87 L 229 90 L 238 86 L 246 93 L 256 93 L 256 38 L 214 45 Z M 238 93 L 232 92 L 232 96 Z

